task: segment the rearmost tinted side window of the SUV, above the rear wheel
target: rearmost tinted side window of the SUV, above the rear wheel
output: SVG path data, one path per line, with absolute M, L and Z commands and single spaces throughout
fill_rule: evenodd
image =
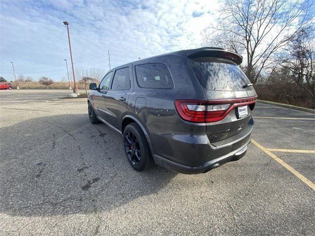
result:
M 171 89 L 174 87 L 166 65 L 151 63 L 136 65 L 136 76 L 140 87 L 154 89 Z

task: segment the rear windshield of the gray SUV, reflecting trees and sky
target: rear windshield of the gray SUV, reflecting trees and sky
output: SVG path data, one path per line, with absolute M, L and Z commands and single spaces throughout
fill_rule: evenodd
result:
M 220 58 L 194 58 L 190 64 L 201 86 L 209 90 L 240 91 L 251 90 L 251 83 L 240 67 L 232 61 Z

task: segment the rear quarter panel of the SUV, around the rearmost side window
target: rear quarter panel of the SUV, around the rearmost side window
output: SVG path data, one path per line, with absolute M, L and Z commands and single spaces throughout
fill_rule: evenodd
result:
M 146 89 L 140 88 L 135 73 L 135 66 L 145 63 L 163 63 L 170 71 L 174 88 L 172 89 Z M 128 99 L 128 115 L 137 118 L 146 127 L 146 131 L 153 143 L 153 153 L 167 157 L 168 134 L 178 131 L 183 120 L 178 116 L 174 101 L 176 99 L 204 100 L 206 96 L 197 81 L 191 80 L 180 55 L 165 55 L 152 59 L 139 60 L 133 64 L 134 90 Z M 138 98 L 138 99 L 137 99 Z M 140 99 L 139 99 L 140 98 Z M 137 101 L 137 102 L 136 102 Z M 139 102 L 140 101 L 140 102 Z M 200 132 L 199 129 L 198 132 Z M 194 130 L 188 130 L 193 135 Z

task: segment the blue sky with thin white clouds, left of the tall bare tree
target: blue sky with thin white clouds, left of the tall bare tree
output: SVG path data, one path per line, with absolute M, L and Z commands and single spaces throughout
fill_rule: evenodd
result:
M 157 3 L 158 2 L 158 3 Z M 75 67 L 112 66 L 200 46 L 200 31 L 213 23 L 216 0 L 0 0 L 0 76 L 48 76 L 70 66 L 69 22 Z

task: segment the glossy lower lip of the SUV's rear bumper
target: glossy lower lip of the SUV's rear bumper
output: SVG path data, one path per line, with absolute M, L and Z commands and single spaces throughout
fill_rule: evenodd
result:
M 174 161 L 165 159 L 163 157 L 160 157 L 158 155 L 154 155 L 153 159 L 159 166 L 162 166 L 166 169 L 173 170 L 182 174 L 201 174 L 206 173 L 214 168 L 217 168 L 221 166 L 224 163 L 227 163 L 229 161 L 237 161 L 241 159 L 247 151 L 248 144 L 251 143 L 251 140 L 249 140 L 246 144 L 244 144 L 242 147 L 237 148 L 236 150 L 218 157 L 216 159 L 210 160 L 203 165 L 200 166 L 186 166 L 179 163 L 176 163 Z

